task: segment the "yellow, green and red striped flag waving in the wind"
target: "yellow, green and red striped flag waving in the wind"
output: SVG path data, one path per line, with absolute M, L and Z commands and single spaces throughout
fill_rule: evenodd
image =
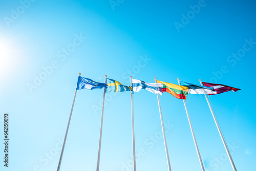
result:
M 188 94 L 188 88 L 185 86 L 179 86 L 176 84 L 163 82 L 157 80 L 157 83 L 163 83 L 162 92 L 167 92 L 172 94 L 174 97 L 178 99 L 186 99 L 186 96 Z

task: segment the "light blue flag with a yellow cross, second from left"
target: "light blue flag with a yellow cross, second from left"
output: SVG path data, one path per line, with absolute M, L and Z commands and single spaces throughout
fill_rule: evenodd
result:
M 114 79 L 106 79 L 106 84 L 108 84 L 108 88 L 106 88 L 106 93 L 108 92 L 125 92 L 125 91 L 131 91 L 133 92 L 133 87 L 131 86 L 123 86 L 120 82 L 114 80 Z

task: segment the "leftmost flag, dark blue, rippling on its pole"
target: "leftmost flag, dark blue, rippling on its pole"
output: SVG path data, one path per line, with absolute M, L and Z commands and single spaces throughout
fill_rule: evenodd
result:
M 95 82 L 89 78 L 84 78 L 79 76 L 76 90 L 80 90 L 80 89 L 93 90 L 93 89 L 101 89 L 103 87 L 107 88 L 108 85 L 105 83 Z

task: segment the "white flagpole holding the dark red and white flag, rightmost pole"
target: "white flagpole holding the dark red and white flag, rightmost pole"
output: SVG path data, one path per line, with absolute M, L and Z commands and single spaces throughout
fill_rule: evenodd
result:
M 200 82 L 201 86 L 203 86 L 201 79 L 199 79 L 199 82 Z M 220 134 L 220 136 L 221 136 L 221 140 L 222 140 L 223 145 L 224 145 L 224 147 L 225 147 L 225 149 L 226 149 L 226 152 L 227 152 L 229 161 L 230 161 L 230 163 L 231 163 L 231 165 L 232 165 L 232 168 L 233 168 L 234 171 L 237 171 L 237 168 L 236 168 L 236 166 L 234 165 L 234 162 L 233 162 L 233 159 L 232 159 L 232 157 L 231 157 L 231 155 L 230 155 L 230 153 L 229 153 L 229 150 L 228 150 L 226 141 L 225 141 L 225 139 L 224 139 L 224 137 L 223 137 L 223 135 L 222 135 L 220 126 L 219 126 L 219 124 L 218 124 L 218 122 L 217 122 L 217 119 L 216 119 L 216 117 L 215 117 L 215 115 L 214 115 L 214 112 L 212 111 L 211 105 L 210 105 L 210 103 L 209 103 L 209 100 L 208 100 L 206 94 L 205 94 L 205 98 L 206 98 L 207 103 L 208 103 L 208 105 L 209 105 L 211 115 L 212 115 L 212 117 L 214 118 L 215 124 L 216 124 L 216 126 L 217 126 L 218 131 L 219 131 L 219 134 Z

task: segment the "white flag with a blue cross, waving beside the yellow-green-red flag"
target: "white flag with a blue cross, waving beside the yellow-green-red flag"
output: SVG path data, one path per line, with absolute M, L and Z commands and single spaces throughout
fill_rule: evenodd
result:
M 138 79 L 133 79 L 134 92 L 139 92 L 141 89 L 145 89 L 147 91 L 150 91 L 151 93 L 162 95 L 162 92 L 160 91 L 162 87 L 162 83 L 148 83 Z

